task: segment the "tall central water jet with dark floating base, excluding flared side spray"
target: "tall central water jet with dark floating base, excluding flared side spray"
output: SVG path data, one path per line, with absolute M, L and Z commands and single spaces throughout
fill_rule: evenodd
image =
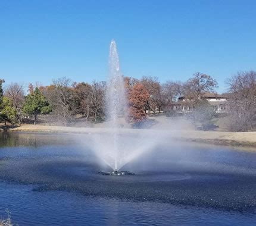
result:
M 107 120 L 111 129 L 111 141 L 113 143 L 112 150 L 107 152 L 107 164 L 114 170 L 112 172 L 100 171 L 102 175 L 133 175 L 129 171 L 118 171 L 121 167 L 121 161 L 125 158 L 123 147 L 120 143 L 120 125 L 118 120 L 125 117 L 127 112 L 126 92 L 124 88 L 124 80 L 120 71 L 120 63 L 117 53 L 117 45 L 114 40 L 110 43 L 109 56 L 110 74 L 107 82 Z M 106 157 L 106 156 L 105 156 Z

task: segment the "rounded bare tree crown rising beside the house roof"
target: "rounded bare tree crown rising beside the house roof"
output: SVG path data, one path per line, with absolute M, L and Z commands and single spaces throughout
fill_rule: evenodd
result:
M 201 99 L 207 92 L 214 92 L 218 87 L 215 79 L 207 74 L 195 73 L 185 84 L 186 97 L 190 99 Z

